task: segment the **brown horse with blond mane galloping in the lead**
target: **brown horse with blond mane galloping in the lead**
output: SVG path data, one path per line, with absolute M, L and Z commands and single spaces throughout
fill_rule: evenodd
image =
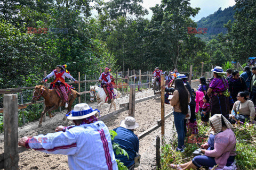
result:
M 59 108 L 60 106 L 64 106 L 65 103 L 61 102 L 61 98 L 57 95 L 57 93 L 55 92 L 54 89 L 50 90 L 47 87 L 43 86 L 43 85 L 38 85 L 35 87 L 34 91 L 33 91 L 33 97 L 31 100 L 31 103 L 36 103 L 36 101 L 43 96 L 44 98 L 44 104 L 45 104 L 45 108 L 44 111 L 41 114 L 41 118 L 39 120 L 39 124 L 38 127 L 40 128 L 42 126 L 42 120 L 43 120 L 43 116 L 46 112 L 49 113 L 49 117 L 53 117 L 53 115 L 51 115 L 51 111 Z M 68 114 L 71 111 L 71 106 L 74 102 L 74 100 L 79 97 L 80 94 L 76 91 L 71 89 L 71 94 L 68 94 L 68 108 L 67 108 L 67 113 Z M 67 116 L 63 117 L 63 121 L 67 120 Z

